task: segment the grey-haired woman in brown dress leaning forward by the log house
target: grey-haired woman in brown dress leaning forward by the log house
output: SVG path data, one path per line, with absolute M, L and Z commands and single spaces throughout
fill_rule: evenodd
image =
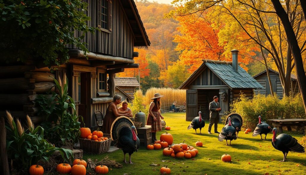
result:
M 102 132 L 110 134 L 110 127 L 112 126 L 113 122 L 117 117 L 120 116 L 126 116 L 129 117 L 128 114 L 119 114 L 117 105 L 121 103 L 121 96 L 120 95 L 115 95 L 113 98 L 113 102 L 110 103 L 110 105 L 106 109 L 106 114 L 104 116 L 103 120 L 103 128 Z

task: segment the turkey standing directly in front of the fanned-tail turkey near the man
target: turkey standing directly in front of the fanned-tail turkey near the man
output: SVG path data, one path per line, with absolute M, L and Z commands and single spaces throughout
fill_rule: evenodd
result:
M 229 120 L 228 124 L 226 124 L 222 128 L 221 133 L 218 136 L 218 140 L 220 142 L 222 142 L 225 139 L 226 140 L 226 146 L 232 146 L 231 145 L 232 140 L 236 140 L 237 139 L 236 128 L 234 128 L 232 126 L 231 118 L 230 117 L 228 117 L 228 120 Z M 227 140 L 230 140 L 230 145 L 227 143 Z

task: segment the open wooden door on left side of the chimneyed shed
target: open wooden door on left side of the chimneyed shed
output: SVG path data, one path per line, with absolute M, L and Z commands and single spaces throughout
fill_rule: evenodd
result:
M 198 89 L 186 91 L 186 121 L 191 121 L 198 116 Z

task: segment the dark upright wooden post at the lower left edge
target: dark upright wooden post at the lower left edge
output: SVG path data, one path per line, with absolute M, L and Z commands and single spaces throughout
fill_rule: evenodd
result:
M 3 116 L 0 116 L 0 152 L 0 174 L 9 175 L 9 162 L 6 152 L 6 128 Z

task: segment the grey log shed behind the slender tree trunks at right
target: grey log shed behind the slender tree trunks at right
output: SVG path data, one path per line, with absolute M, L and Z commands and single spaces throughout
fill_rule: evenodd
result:
M 282 99 L 283 98 L 283 87 L 282 87 L 281 79 L 279 78 L 279 73 L 275 70 L 272 70 L 271 68 L 269 68 L 268 70 L 269 70 L 269 74 L 271 78 L 273 92 L 276 93 L 280 99 Z M 253 78 L 256 79 L 256 81 L 259 82 L 259 84 L 263 86 L 262 89 L 254 89 L 254 92 L 256 94 L 264 94 L 266 96 L 271 94 L 267 70 L 264 70 L 260 72 L 259 74 L 254 75 Z M 299 85 L 297 84 L 297 77 L 293 74 L 291 74 L 290 91 L 293 92 L 293 94 L 296 94 L 299 92 Z

